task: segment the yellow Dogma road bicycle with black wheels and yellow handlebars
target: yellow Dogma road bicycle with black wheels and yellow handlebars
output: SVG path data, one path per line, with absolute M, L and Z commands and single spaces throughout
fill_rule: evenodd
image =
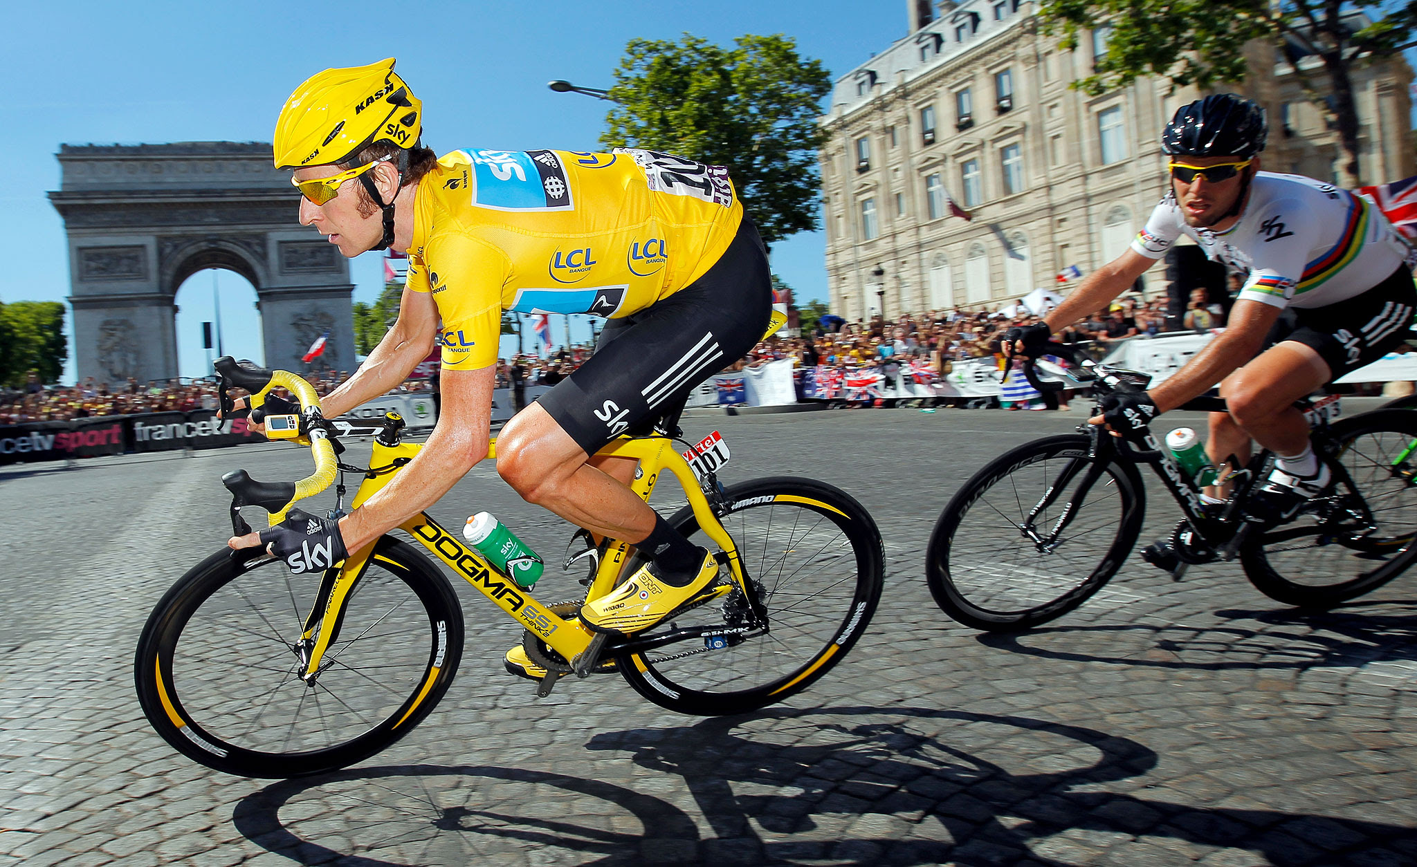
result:
M 278 523 L 337 475 L 339 510 L 344 472 L 363 475 L 351 502 L 359 507 L 421 448 L 401 441 L 402 419 L 393 414 L 367 429 L 323 419 L 315 390 L 295 374 L 230 357 L 217 371 L 224 405 L 228 385 L 249 391 L 254 409 L 272 388 L 289 390 L 299 415 L 268 415 L 268 431 L 315 453 L 316 470 L 300 482 L 255 482 L 244 470 L 222 477 L 238 536 L 249 531 L 242 507 L 264 507 Z M 646 502 L 673 476 L 689 504 L 670 524 L 721 564 L 717 581 L 642 633 L 611 640 L 575 616 L 642 562 L 623 541 L 587 540 L 565 564 L 589 564 L 584 599 L 547 605 L 427 513 L 400 527 L 526 629 L 523 647 L 546 670 L 540 696 L 568 674 L 618 673 L 662 707 L 740 714 L 811 686 L 870 623 L 884 561 L 880 531 L 860 503 L 786 476 L 724 487 L 721 438 L 701 449 L 679 441 L 676 418 L 599 452 L 639 460 L 632 487 Z M 339 460 L 340 438 L 351 434 L 377 434 L 367 468 Z M 687 459 L 676 441 L 689 446 Z M 157 602 L 135 679 L 147 720 L 183 755 L 228 774 L 289 778 L 361 761 L 412 730 L 446 693 L 462 646 L 462 608 L 446 577 L 393 534 L 319 575 L 290 574 L 261 548 L 221 548 Z

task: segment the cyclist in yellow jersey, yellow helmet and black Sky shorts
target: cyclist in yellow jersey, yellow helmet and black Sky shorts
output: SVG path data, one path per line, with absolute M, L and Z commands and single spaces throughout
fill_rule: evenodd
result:
M 322 400 L 349 412 L 401 384 L 436 344 L 442 411 L 419 455 L 360 509 L 300 513 L 232 547 L 302 547 L 334 561 L 432 506 L 487 453 L 503 310 L 609 319 L 595 353 L 497 438 L 497 472 L 526 500 L 597 534 L 638 540 L 649 564 L 582 608 L 594 630 L 646 629 L 717 575 L 704 548 L 628 487 L 635 462 L 594 458 L 676 415 L 689 391 L 747 353 L 772 305 L 767 251 L 727 170 L 648 150 L 455 150 L 422 146 L 422 105 L 393 58 L 326 69 L 286 101 L 275 164 L 292 169 L 300 222 L 346 256 L 407 251 L 398 320 Z M 292 513 L 293 516 L 295 513 Z M 531 673 L 520 647 L 509 670 Z

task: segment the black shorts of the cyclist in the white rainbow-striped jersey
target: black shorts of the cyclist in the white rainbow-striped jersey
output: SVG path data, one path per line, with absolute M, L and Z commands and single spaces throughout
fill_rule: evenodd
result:
M 1326 307 L 1295 309 L 1295 327 L 1278 340 L 1312 347 L 1329 366 L 1329 381 L 1366 367 L 1407 340 L 1417 310 L 1413 272 L 1399 265 L 1367 292 Z

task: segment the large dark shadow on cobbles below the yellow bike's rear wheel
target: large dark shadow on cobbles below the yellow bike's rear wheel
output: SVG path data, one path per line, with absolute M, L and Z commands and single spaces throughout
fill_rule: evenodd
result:
M 808 725 L 798 744 L 764 745 L 764 737 L 791 740 L 794 721 L 819 715 L 843 721 Z M 891 721 L 860 722 L 863 715 Z M 922 721 L 927 724 L 921 725 Z M 956 725 L 952 730 L 938 725 L 947 721 Z M 764 722 L 772 725 L 751 737 L 734 734 L 741 725 Z M 1030 747 L 1016 735 L 1007 742 L 985 737 L 983 747 L 973 752 L 942 740 L 969 735 L 988 724 L 1030 731 L 1034 741 L 1074 742 L 1071 749 L 1032 756 L 1034 766 L 1073 758 L 1078 745 L 1093 751 L 1097 761 L 1066 771 L 1016 774 L 1005 762 L 1023 758 L 1007 754 Z M 820 740 L 812 735 L 813 728 L 835 732 L 837 742 L 812 742 Z M 1101 788 L 1093 790 L 1100 783 L 1146 774 L 1156 766 L 1158 755 L 1128 738 L 1027 717 L 918 707 L 769 710 L 747 720 L 713 718 L 673 730 L 605 732 L 595 735 L 587 748 L 628 752 L 642 768 L 682 776 L 714 830 L 716 840 L 700 844 L 704 863 L 720 860 L 718 842 L 731 842 L 733 854 L 748 863 L 1090 863 L 1085 847 L 1068 849 L 1070 832 L 1110 840 L 1138 836 L 1172 840 L 1190 851 L 1172 851 L 1170 857 L 1187 861 L 1204 854 L 1195 851 L 1200 847 L 1246 849 L 1271 864 L 1352 863 L 1365 856 L 1382 863 L 1417 858 L 1417 830 L 1408 827 L 1280 810 L 1195 808 Z M 985 752 L 1006 758 L 993 761 Z M 769 792 L 741 793 L 735 786 Z M 784 789 L 792 793 L 782 793 Z M 857 827 L 873 827 L 870 817 L 887 816 L 904 833 L 887 837 L 853 833 Z M 927 826 L 931 819 L 938 826 Z M 931 830 L 937 839 L 921 839 L 918 832 Z M 813 832 L 826 832 L 830 840 L 818 840 L 822 834 Z M 1101 851 L 1094 854 L 1102 857 Z M 1121 854 L 1125 850 L 1110 853 L 1112 858 Z M 1168 853 L 1158 853 L 1153 846 L 1146 854 L 1138 853 L 1138 861 L 1158 854 Z

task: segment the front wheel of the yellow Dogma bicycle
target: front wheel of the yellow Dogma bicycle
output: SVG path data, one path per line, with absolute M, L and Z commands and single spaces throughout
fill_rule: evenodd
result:
M 351 765 L 418 725 L 462 659 L 462 608 L 442 572 L 414 545 L 380 538 L 306 686 L 292 642 L 319 584 L 278 560 L 241 564 L 227 548 L 183 575 L 153 608 L 133 662 L 157 734 L 215 771 L 292 778 Z

